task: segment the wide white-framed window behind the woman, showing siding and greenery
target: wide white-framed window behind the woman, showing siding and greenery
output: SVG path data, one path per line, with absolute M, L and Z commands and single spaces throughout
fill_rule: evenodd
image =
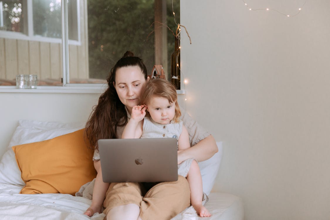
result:
M 18 74 L 38 86 L 105 83 L 127 50 L 169 79 L 179 14 L 172 0 L 0 0 L 0 85 Z

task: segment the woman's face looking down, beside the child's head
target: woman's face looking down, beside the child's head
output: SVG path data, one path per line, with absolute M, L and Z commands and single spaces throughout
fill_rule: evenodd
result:
M 114 86 L 129 113 L 132 112 L 133 106 L 140 105 L 141 91 L 145 83 L 144 74 L 138 66 L 120 67 L 116 70 Z

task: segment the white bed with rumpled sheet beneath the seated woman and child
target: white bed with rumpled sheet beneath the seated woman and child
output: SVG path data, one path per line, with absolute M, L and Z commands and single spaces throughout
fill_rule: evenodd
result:
M 0 219 L 11 220 L 102 220 L 104 214 L 89 218 L 82 213 L 90 206 L 91 200 L 69 194 L 19 194 L 20 186 L 0 184 Z M 231 194 L 211 193 L 205 205 L 212 217 L 198 217 L 189 207 L 172 220 L 208 219 L 243 220 L 242 200 Z

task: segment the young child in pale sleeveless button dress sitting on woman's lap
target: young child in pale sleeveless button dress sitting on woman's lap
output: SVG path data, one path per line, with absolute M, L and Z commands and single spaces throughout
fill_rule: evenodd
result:
M 177 99 L 176 89 L 169 81 L 149 80 L 141 95 L 143 105 L 133 107 L 122 138 L 177 138 L 179 151 L 189 148 L 189 135 L 180 121 L 181 111 Z M 197 162 L 194 159 L 183 161 L 178 165 L 178 174 L 185 176 L 188 181 L 190 202 L 197 214 L 201 217 L 211 216 L 202 204 L 202 176 Z

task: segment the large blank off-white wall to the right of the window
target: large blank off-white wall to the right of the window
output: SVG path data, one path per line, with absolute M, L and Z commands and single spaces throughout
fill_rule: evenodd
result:
M 246 2 L 295 14 L 305 0 Z M 223 141 L 214 191 L 242 197 L 246 220 L 329 219 L 329 9 L 181 0 L 186 108 Z

